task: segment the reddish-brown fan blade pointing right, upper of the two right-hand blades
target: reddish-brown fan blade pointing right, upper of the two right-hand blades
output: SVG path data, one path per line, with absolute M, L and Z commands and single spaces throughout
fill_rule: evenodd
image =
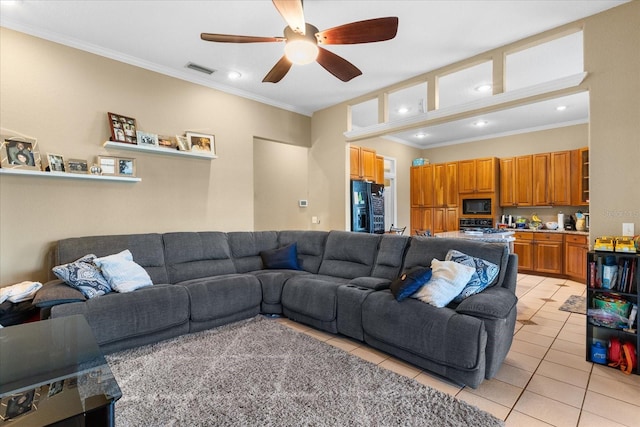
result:
M 321 44 L 357 44 L 390 40 L 398 32 L 398 18 L 376 18 L 329 28 L 316 34 Z

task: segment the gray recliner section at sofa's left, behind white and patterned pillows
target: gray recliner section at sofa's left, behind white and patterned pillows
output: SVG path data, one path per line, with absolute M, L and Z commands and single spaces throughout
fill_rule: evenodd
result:
M 83 314 L 105 353 L 152 344 L 189 332 L 189 294 L 182 286 L 168 284 L 161 234 L 63 239 L 58 241 L 54 265 L 73 262 L 89 253 L 102 257 L 125 249 L 129 249 L 133 259 L 149 273 L 154 286 L 126 294 L 113 292 L 107 298 L 91 298 L 51 308 L 52 317 Z

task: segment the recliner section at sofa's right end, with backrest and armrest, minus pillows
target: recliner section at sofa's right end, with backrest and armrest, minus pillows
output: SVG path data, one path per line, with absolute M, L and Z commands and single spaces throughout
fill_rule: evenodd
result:
M 412 237 L 403 271 L 444 260 L 449 249 L 497 264 L 495 285 L 460 304 L 436 308 L 414 298 L 397 302 L 389 290 L 362 304 L 364 341 L 462 384 L 492 378 L 513 339 L 517 309 L 517 256 L 505 245 L 462 239 Z

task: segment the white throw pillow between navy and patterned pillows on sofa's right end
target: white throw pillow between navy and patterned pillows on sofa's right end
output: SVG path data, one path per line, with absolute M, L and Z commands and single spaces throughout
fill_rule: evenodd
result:
M 475 272 L 473 267 L 454 261 L 431 261 L 431 280 L 413 294 L 422 302 L 444 307 L 462 291 Z

